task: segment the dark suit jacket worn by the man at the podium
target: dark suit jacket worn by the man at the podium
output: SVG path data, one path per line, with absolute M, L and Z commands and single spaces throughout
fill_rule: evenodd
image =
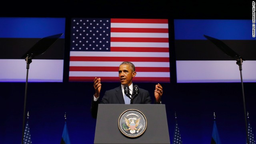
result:
M 140 92 L 138 96 L 136 96 L 133 100 L 133 104 L 151 104 L 152 100 L 150 98 L 148 90 L 139 88 L 139 91 Z M 107 90 L 101 101 L 99 99 L 97 101 L 94 101 L 92 98 L 91 114 L 93 118 L 97 117 L 98 104 L 125 104 L 122 87 L 119 86 L 112 90 Z

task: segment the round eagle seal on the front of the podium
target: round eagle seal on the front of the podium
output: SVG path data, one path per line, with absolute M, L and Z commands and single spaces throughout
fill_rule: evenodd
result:
M 118 127 L 125 136 L 135 138 L 145 132 L 147 120 L 138 110 L 126 110 L 119 117 Z

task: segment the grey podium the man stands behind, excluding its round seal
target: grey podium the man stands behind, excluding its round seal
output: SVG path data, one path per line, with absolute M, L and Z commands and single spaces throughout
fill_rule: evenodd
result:
M 119 128 L 120 116 L 127 110 L 144 114 L 146 129 L 138 137 L 129 137 Z M 94 144 L 170 144 L 164 104 L 99 104 Z

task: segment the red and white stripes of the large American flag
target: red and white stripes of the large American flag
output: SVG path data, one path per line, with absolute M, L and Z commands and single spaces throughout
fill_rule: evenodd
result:
M 111 52 L 70 52 L 70 81 L 118 82 L 118 68 L 132 62 L 134 82 L 170 82 L 167 19 L 111 19 Z

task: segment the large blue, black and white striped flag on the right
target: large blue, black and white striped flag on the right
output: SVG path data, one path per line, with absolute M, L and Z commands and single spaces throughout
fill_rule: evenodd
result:
M 241 82 L 234 58 L 204 35 L 221 40 L 239 54 L 244 82 L 256 82 L 256 38 L 251 20 L 174 20 L 178 83 Z

